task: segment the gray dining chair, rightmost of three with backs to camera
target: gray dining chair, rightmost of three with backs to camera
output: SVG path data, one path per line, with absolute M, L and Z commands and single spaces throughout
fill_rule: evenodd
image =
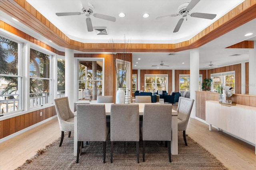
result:
M 168 143 L 168 157 L 171 159 L 172 139 L 172 105 L 145 104 L 142 123 L 143 162 L 145 162 L 146 141 L 166 141 Z

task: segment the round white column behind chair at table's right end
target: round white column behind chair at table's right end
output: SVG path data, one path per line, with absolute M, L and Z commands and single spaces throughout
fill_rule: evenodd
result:
M 199 90 L 199 49 L 190 51 L 190 98 L 194 99 L 190 117 L 196 117 L 196 90 Z

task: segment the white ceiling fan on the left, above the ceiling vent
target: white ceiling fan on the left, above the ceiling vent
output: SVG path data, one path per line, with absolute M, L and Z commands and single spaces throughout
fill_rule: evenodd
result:
M 88 3 L 87 9 L 84 8 L 83 5 L 81 4 L 81 10 L 82 10 L 82 12 L 59 12 L 59 13 L 56 13 L 56 16 L 76 16 L 76 15 L 85 14 L 87 16 L 86 25 L 87 25 L 87 30 L 89 32 L 93 31 L 92 20 L 91 20 L 90 16 L 94 16 L 95 18 L 100 18 L 103 20 L 108 20 L 108 21 L 113 21 L 113 22 L 116 21 L 116 17 L 93 13 L 94 6 L 90 3 Z

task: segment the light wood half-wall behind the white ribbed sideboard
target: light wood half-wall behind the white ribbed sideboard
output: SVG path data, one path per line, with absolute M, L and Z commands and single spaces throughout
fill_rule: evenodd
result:
M 205 120 L 205 101 L 218 101 L 217 92 L 196 91 L 196 117 Z M 233 94 L 232 103 L 256 107 L 256 95 Z

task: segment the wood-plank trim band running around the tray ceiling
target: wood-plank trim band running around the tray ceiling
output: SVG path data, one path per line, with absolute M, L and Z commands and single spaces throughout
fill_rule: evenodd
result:
M 3 6 L 2 6 L 3 4 Z M 6 0 L 1 3 L 1 10 L 10 16 L 16 16 L 22 23 L 31 27 L 44 37 L 51 39 L 61 47 L 84 52 L 112 52 L 108 43 L 82 43 L 69 39 L 49 20 L 40 14 L 25 0 Z M 198 48 L 217 37 L 243 25 L 256 18 L 256 0 L 245 0 L 236 8 L 222 16 L 203 31 L 192 37 L 188 41 L 176 44 L 141 44 L 132 43 L 131 52 L 168 52 L 174 53 L 188 49 Z M 123 51 L 122 43 L 114 45 L 115 52 Z

